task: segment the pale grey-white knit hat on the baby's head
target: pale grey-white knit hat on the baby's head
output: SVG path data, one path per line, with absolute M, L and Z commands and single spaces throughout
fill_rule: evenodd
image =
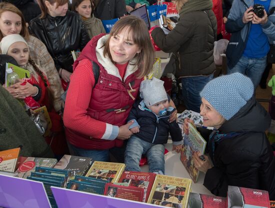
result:
M 163 81 L 154 77 L 151 80 L 146 79 L 141 82 L 140 97 L 143 98 L 147 107 L 168 99 L 163 83 Z

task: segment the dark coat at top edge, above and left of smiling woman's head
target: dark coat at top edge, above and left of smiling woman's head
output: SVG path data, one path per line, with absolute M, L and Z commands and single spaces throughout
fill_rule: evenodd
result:
M 126 15 L 124 0 L 99 0 L 94 16 L 100 20 L 112 20 Z

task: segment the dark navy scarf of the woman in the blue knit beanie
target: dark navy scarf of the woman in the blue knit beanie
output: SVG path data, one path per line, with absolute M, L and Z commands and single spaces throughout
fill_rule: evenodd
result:
M 209 136 L 208 151 L 214 165 L 215 165 L 215 160 L 214 160 L 215 145 L 219 144 L 224 139 L 231 139 L 244 133 L 245 132 L 240 132 L 240 133 L 230 132 L 227 134 L 220 134 L 219 130 L 212 131 L 212 133 Z

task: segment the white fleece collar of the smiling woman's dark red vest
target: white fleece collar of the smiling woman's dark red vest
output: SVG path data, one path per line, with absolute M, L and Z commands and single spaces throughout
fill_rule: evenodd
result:
M 97 45 L 95 48 L 96 58 L 97 58 L 97 61 L 99 62 L 99 64 L 101 64 L 104 67 L 104 69 L 107 71 L 108 74 L 118 77 L 122 81 L 122 78 L 120 77 L 118 69 L 114 66 L 114 64 L 111 62 L 111 60 L 108 57 L 103 56 L 104 47 L 102 47 L 102 46 L 107 41 L 108 37 L 109 37 L 109 34 L 98 39 L 98 42 L 97 42 Z M 136 60 L 136 58 L 133 58 L 131 61 L 129 61 L 123 81 L 125 81 L 129 75 L 131 75 L 132 73 L 134 73 L 137 70 L 136 65 L 130 64 L 130 63 L 134 63 L 135 60 Z

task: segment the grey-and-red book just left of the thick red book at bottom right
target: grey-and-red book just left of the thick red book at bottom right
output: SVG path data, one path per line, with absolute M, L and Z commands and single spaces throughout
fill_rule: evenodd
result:
M 225 208 L 226 198 L 201 193 L 190 193 L 188 208 Z

